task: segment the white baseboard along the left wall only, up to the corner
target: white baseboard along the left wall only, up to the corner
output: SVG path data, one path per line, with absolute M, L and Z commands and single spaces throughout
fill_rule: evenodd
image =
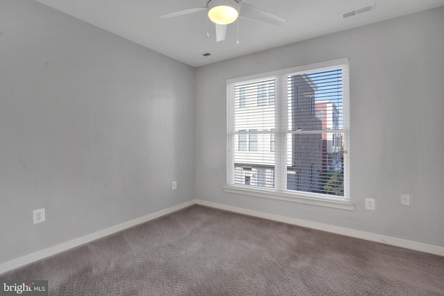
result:
M 72 241 L 67 241 L 66 243 L 61 243 L 60 245 L 55 245 L 53 247 L 48 247 L 47 249 L 28 254 L 26 256 L 22 256 L 17 259 L 13 259 L 11 261 L 8 261 L 6 263 L 3 263 L 0 265 L 0 274 L 4 272 L 8 272 L 10 270 L 13 270 L 15 268 L 19 268 L 21 266 L 24 266 L 29 263 L 33 263 L 35 261 L 44 259 L 49 256 L 53 256 L 55 254 L 58 254 L 60 252 L 65 252 L 69 249 L 72 249 L 73 247 L 78 247 L 79 245 L 83 245 L 85 243 L 89 243 L 92 241 L 95 241 L 96 239 L 103 238 L 105 236 L 109 236 L 110 234 L 114 234 L 116 232 L 120 232 L 121 230 L 127 229 L 129 227 L 133 227 L 135 225 L 139 225 L 141 223 L 148 222 L 150 220 L 153 220 L 155 218 L 159 218 L 162 216 L 165 216 L 167 214 L 171 214 L 174 211 L 178 211 L 180 209 L 184 209 L 186 207 L 189 207 L 193 204 L 196 204 L 196 200 L 189 200 L 188 202 L 183 202 L 182 204 L 177 204 L 176 206 L 169 207 L 167 209 L 162 209 L 160 211 L 156 211 L 155 213 L 148 214 L 146 216 L 136 218 L 134 220 L 130 220 L 125 223 L 121 223 L 119 225 L 112 226 L 107 229 L 103 229 L 99 232 L 94 232 L 93 234 L 87 234 L 85 236 L 81 236 L 79 238 L 75 238 Z

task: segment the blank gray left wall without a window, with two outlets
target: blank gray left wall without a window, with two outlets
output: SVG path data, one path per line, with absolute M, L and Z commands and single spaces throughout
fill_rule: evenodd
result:
M 194 72 L 1 0 L 0 263 L 194 198 Z

